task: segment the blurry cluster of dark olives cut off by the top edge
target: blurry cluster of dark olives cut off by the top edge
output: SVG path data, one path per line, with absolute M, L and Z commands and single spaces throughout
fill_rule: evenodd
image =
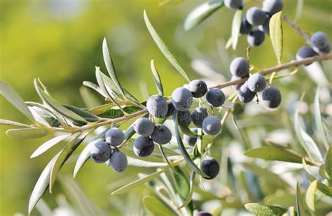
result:
M 231 9 L 243 8 L 242 0 L 225 0 L 225 6 Z M 246 16 L 242 17 L 240 33 L 248 34 L 247 41 L 249 45 L 255 47 L 261 45 L 265 39 L 265 34 L 270 34 L 269 23 L 270 18 L 283 8 L 282 0 L 265 0 L 263 7 L 256 6 L 247 10 Z M 253 26 L 258 26 L 252 29 Z

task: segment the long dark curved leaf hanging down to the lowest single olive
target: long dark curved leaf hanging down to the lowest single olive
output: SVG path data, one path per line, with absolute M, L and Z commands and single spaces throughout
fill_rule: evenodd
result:
M 195 173 L 197 173 L 198 175 L 202 175 L 202 177 L 208 178 L 209 176 L 207 176 L 205 173 L 203 173 L 200 170 L 200 168 L 198 168 L 198 166 L 194 163 L 194 161 L 191 159 L 190 155 L 188 154 L 186 147 L 184 147 L 184 143 L 182 142 L 179 133 L 179 117 L 177 111 L 173 113 L 173 120 L 175 124 L 175 136 L 177 136 L 177 143 L 179 145 L 179 150 L 184 159 L 186 160 L 188 166 L 190 166 L 193 169 L 193 171 L 195 171 Z

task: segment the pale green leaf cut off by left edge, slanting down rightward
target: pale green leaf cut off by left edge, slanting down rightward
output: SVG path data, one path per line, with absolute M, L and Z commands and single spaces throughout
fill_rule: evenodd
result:
M 34 116 L 30 112 L 29 108 L 27 108 L 27 105 L 25 104 L 25 101 L 23 101 L 20 94 L 18 94 L 18 92 L 16 92 L 11 85 L 8 85 L 3 80 L 0 80 L 0 93 L 21 113 L 29 117 L 30 120 L 34 121 Z

